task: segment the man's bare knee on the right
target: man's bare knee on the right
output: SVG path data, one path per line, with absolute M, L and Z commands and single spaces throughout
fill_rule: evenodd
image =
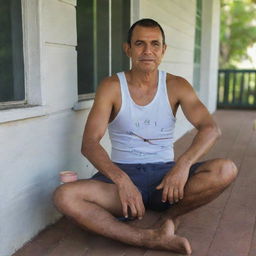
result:
M 238 174 L 237 167 L 235 163 L 230 159 L 220 159 L 219 161 L 220 161 L 220 164 L 219 164 L 218 176 L 219 176 L 220 182 L 223 186 L 228 186 L 235 180 Z

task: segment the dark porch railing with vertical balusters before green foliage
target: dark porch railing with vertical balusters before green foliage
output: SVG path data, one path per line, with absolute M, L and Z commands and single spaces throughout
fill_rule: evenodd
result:
M 256 109 L 256 70 L 220 69 L 218 108 Z

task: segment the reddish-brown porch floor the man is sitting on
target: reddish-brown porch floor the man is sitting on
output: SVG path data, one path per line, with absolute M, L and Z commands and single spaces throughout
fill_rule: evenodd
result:
M 256 111 L 221 110 L 214 118 L 222 137 L 206 159 L 228 157 L 239 167 L 236 181 L 210 204 L 182 217 L 178 234 L 192 244 L 194 256 L 256 255 Z M 195 131 L 175 144 L 177 155 L 192 141 Z M 156 220 L 149 212 L 141 225 Z M 177 256 L 135 248 L 89 233 L 62 218 L 45 229 L 13 256 Z

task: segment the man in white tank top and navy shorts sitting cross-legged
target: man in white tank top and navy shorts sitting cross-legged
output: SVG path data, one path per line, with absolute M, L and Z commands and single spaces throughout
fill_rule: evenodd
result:
M 137 21 L 124 50 L 132 68 L 101 82 L 84 130 L 82 153 L 99 172 L 61 185 L 54 202 L 60 212 L 103 236 L 191 254 L 189 241 L 175 235 L 175 219 L 216 198 L 237 168 L 228 159 L 197 163 L 220 130 L 185 79 L 158 70 L 166 50 L 161 26 L 151 19 Z M 198 132 L 174 162 L 179 106 Z M 100 145 L 107 128 L 111 158 Z M 142 229 L 118 218 L 141 220 L 147 209 L 164 212 L 155 227 Z

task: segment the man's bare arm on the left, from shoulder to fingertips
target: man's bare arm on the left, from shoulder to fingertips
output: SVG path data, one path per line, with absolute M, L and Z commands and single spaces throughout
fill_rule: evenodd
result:
M 118 95 L 116 90 L 118 87 L 115 83 L 117 82 L 114 78 L 107 78 L 97 90 L 85 125 L 81 152 L 97 170 L 117 185 L 124 216 L 128 217 L 128 208 L 130 208 L 133 217 L 141 218 L 145 209 L 140 192 L 128 175 L 111 161 L 100 145 L 100 140 L 108 126 L 114 100 Z

